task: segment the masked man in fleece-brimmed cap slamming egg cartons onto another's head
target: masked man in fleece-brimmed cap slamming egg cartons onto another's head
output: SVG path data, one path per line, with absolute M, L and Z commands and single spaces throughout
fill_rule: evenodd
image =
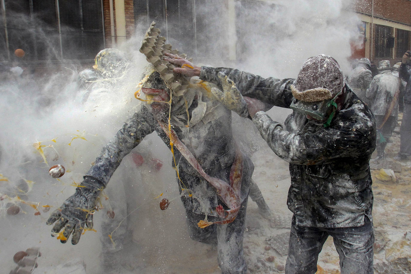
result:
M 373 273 L 369 159 L 375 149 L 375 120 L 344 83 L 337 62 L 314 56 L 297 79 L 279 80 L 236 69 L 200 68 L 170 57 L 175 61 L 169 62 L 190 66 L 175 72 L 197 74 L 211 83 L 219 73 L 232 79 L 261 136 L 290 163 L 287 205 L 294 215 L 286 273 L 314 274 L 328 235 L 339 253 L 341 273 Z M 272 106 L 293 106 L 284 126 L 264 112 Z

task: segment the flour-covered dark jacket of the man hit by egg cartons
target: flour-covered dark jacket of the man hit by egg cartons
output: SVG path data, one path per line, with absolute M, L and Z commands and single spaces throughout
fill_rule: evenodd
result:
M 212 177 L 229 182 L 231 165 L 236 155 L 231 132 L 231 111 L 219 101 L 207 96 L 210 94 L 199 85 L 198 77 L 192 78 L 189 90 L 183 96 L 173 97 L 171 124 L 178 138 L 192 152 L 205 172 Z M 190 115 L 188 122 L 187 110 Z M 164 115 L 165 123 L 168 118 L 166 116 L 168 111 Z M 123 157 L 139 145 L 145 136 L 154 131 L 170 148 L 170 140 L 152 115 L 151 107 L 143 103 L 141 109 L 134 113 L 115 137 L 103 147 L 95 164 L 85 176 L 92 176 L 106 185 Z M 174 156 L 182 180 L 179 183 L 180 193 L 187 197 L 192 194 L 191 198 L 185 199 L 185 207 L 198 214 L 217 216 L 215 207 L 224 204 L 222 201 L 217 201 L 215 189 L 199 175 L 175 147 Z M 244 154 L 242 157 L 241 200 L 248 196 L 249 183 L 254 170 L 249 157 Z M 174 161 L 172 162 L 174 166 Z

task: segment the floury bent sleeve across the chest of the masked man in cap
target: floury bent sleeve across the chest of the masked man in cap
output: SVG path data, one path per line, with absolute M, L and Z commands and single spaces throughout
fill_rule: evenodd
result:
M 253 122 L 270 148 L 285 161 L 323 164 L 339 157 L 362 157 L 368 150 L 374 150 L 372 118 L 356 119 L 351 113 L 349 109 L 344 110 L 340 120 L 330 127 L 320 126 L 315 132 L 303 131 L 303 134 L 286 131 L 262 111 L 254 115 Z

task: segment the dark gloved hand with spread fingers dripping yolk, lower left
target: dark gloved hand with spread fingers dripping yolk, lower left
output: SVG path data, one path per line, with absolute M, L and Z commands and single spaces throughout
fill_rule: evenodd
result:
M 93 228 L 93 214 L 95 212 L 96 200 L 104 185 L 92 177 L 86 177 L 76 188 L 76 192 L 70 196 L 57 210 L 53 211 L 46 224 L 51 225 L 51 236 L 62 230 L 60 242 L 63 244 L 72 235 L 72 244 L 80 241 L 81 233 L 85 225 Z

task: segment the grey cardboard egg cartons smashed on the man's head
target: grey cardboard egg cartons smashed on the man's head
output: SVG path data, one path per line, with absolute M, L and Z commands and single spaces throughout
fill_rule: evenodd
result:
M 140 52 L 145 55 L 147 61 L 158 71 L 167 87 L 172 90 L 174 94 L 180 96 L 184 94 L 188 88 L 188 79 L 181 74 L 173 73 L 173 69 L 177 66 L 164 60 L 163 55 L 164 53 L 172 53 L 181 58 L 187 58 L 187 55 L 180 54 L 178 50 L 172 49 L 171 45 L 165 44 L 165 42 L 166 38 L 160 36 L 160 29 L 155 28 L 155 22 L 152 22 L 150 28 L 148 28 L 145 33 Z

